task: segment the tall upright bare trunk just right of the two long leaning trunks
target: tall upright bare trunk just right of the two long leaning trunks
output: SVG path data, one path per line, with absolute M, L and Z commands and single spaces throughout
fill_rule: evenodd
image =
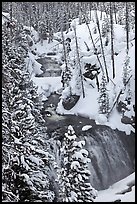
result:
M 115 63 L 114 63 L 114 27 L 113 27 L 113 8 L 110 2 L 110 25 L 111 25 L 111 60 L 112 60 L 112 68 L 113 68 L 113 79 L 115 78 Z

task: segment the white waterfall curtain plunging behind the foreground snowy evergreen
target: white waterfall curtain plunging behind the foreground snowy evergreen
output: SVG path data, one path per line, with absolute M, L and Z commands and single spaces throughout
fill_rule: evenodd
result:
M 73 118 L 73 117 L 72 117 Z M 74 119 L 74 118 L 73 118 Z M 97 190 L 108 188 L 113 183 L 134 172 L 135 134 L 126 135 L 124 132 L 112 130 L 103 125 L 93 125 L 87 131 L 80 131 L 81 127 L 72 123 L 79 140 L 85 140 L 85 149 L 89 152 L 90 181 Z M 70 122 L 70 120 L 69 120 Z M 55 156 L 58 166 L 61 165 L 60 147 L 67 123 L 51 133 L 52 147 L 50 151 Z M 55 128 L 54 124 L 54 128 Z M 51 175 L 55 179 L 52 169 Z M 56 187 L 55 187 L 56 188 Z

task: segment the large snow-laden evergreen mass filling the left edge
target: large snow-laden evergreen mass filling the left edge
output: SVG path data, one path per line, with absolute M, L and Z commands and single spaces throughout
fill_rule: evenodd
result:
M 3 30 L 2 199 L 52 202 L 48 165 L 53 158 L 46 150 L 46 132 L 40 129 L 45 123 L 36 119 L 38 96 L 26 72 L 25 50 L 8 35 Z

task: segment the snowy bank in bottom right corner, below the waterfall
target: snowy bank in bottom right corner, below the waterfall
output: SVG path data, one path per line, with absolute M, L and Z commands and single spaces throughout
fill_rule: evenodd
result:
M 106 190 L 98 191 L 95 202 L 114 202 L 116 200 L 120 200 L 119 202 L 135 202 L 135 173 Z

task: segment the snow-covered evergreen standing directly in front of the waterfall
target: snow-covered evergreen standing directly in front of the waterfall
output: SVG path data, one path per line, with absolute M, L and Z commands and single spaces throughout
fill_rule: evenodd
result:
M 77 141 L 71 125 L 65 133 L 62 156 L 61 199 L 63 202 L 93 202 L 97 191 L 89 182 L 88 151 L 83 148 L 85 141 Z

